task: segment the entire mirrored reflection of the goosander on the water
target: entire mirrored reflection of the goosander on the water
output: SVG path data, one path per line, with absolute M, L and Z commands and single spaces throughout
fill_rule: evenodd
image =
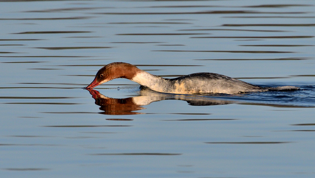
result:
M 184 100 L 193 106 L 223 105 L 233 103 L 232 101 L 213 100 L 202 96 L 188 97 L 185 95 L 158 93 L 146 88 L 140 90 L 139 96 L 122 99 L 106 97 L 94 89 L 87 90 L 89 90 L 90 94 L 95 99 L 95 104 L 99 105 L 100 110 L 104 111 L 101 112 L 101 114 L 108 115 L 141 114 L 140 112 L 132 111 L 145 109 L 141 106 L 160 100 Z

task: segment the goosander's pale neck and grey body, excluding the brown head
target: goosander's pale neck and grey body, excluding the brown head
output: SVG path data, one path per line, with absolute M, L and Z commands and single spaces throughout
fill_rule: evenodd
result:
M 193 73 L 178 78 L 166 79 L 142 72 L 131 80 L 154 91 L 175 94 L 236 94 L 266 90 L 265 88 L 216 73 Z

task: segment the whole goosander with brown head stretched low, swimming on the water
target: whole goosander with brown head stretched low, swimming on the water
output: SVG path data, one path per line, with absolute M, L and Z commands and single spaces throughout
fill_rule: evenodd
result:
M 223 93 L 238 94 L 258 91 L 296 90 L 299 87 L 283 86 L 267 88 L 243 82 L 217 73 L 193 73 L 178 78 L 162 78 L 124 62 L 113 62 L 102 67 L 91 84 L 84 89 L 92 89 L 115 78 L 127 78 L 142 87 L 162 93 L 198 94 Z

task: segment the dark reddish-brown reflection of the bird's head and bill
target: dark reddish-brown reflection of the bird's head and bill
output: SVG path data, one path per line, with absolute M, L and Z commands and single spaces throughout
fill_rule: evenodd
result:
M 95 99 L 95 104 L 100 106 L 100 110 L 104 112 L 100 112 L 101 114 L 108 115 L 130 115 L 130 114 L 140 114 L 139 112 L 132 112 L 144 109 L 143 107 L 135 104 L 132 100 L 132 97 L 116 99 L 106 97 L 100 92 L 94 89 L 89 90 L 92 97 Z

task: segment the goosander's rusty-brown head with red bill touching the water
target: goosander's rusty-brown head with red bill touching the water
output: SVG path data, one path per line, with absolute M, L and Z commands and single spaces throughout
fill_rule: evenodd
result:
M 137 72 L 141 70 L 138 67 L 124 63 L 124 62 L 113 62 L 107 64 L 106 66 L 102 67 L 95 75 L 95 78 L 86 89 L 92 89 L 97 85 L 102 83 L 108 82 L 115 78 L 127 78 L 131 80 Z

